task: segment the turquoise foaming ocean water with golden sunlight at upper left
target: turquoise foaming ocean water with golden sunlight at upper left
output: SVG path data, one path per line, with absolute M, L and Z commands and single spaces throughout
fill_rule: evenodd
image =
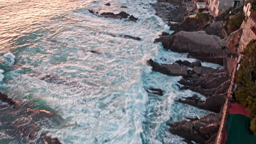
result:
M 108 2 L 110 6 L 104 5 Z M 153 43 L 162 31 L 170 31 L 149 3 L 156 1 L 0 1 L 0 91 L 61 115 L 65 124 L 42 124 L 40 132 L 62 143 L 185 143 L 168 132 L 166 122 L 208 111 L 175 102 L 194 92 L 179 91 L 182 77 L 153 72 L 146 61 L 196 59 Z M 88 9 L 126 11 L 138 21 L 97 17 Z M 55 78 L 42 79 L 46 75 Z M 160 97 L 145 88 L 165 92 Z

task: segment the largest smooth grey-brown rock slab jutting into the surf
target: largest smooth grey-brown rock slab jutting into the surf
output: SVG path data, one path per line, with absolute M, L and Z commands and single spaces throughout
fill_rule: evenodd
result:
M 155 42 L 161 42 L 165 49 L 180 53 L 189 53 L 188 57 L 201 61 L 223 65 L 223 47 L 225 40 L 205 31 L 178 32 L 164 35 Z

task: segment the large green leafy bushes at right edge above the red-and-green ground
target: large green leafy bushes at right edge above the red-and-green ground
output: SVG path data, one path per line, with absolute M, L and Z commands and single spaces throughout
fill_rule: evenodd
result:
M 251 130 L 256 133 L 256 40 L 252 40 L 243 51 L 241 67 L 236 74 L 236 99 L 247 107 L 253 117 Z

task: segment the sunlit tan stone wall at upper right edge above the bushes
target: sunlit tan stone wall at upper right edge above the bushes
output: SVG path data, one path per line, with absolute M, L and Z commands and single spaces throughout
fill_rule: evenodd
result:
M 243 34 L 237 49 L 238 52 L 242 52 L 243 50 L 245 50 L 247 44 L 249 44 L 251 40 L 256 39 L 256 32 L 254 31 L 255 27 L 256 22 L 252 19 L 251 16 L 243 21 L 241 25 L 241 28 L 243 29 Z

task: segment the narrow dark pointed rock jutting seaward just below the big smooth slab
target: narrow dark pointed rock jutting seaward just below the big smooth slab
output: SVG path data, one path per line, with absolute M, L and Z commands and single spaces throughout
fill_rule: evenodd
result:
M 188 76 L 187 67 L 182 67 L 179 64 L 158 64 L 152 59 L 147 62 L 153 69 L 153 71 L 158 71 L 159 73 L 171 75 L 171 76 Z

